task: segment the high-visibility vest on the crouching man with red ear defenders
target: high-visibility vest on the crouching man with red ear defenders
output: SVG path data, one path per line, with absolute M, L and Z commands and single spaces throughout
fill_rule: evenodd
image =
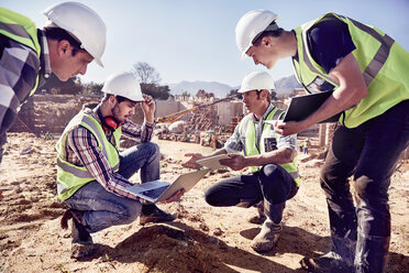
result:
M 68 125 L 65 128 L 62 136 L 59 138 L 56 150 L 58 153 L 57 157 L 57 192 L 58 197 L 62 200 L 69 198 L 75 194 L 80 187 L 87 183 L 95 181 L 96 178 L 87 171 L 85 166 L 77 166 L 60 155 L 67 146 L 67 135 L 77 125 L 81 125 L 89 130 L 98 141 L 98 148 L 102 151 L 103 155 L 107 157 L 109 165 L 113 172 L 119 171 L 120 159 L 119 159 L 119 141 L 121 138 L 121 128 L 113 132 L 113 138 L 115 145 L 107 139 L 101 123 L 96 120 L 92 116 L 86 114 L 82 111 L 69 121 Z

